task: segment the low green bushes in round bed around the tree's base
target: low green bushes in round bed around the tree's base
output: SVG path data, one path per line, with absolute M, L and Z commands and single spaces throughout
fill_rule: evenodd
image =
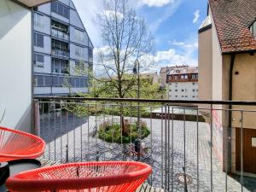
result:
M 98 138 L 108 142 L 108 143 L 133 143 L 138 137 L 139 133 L 137 131 L 137 124 L 126 124 L 126 132 L 121 131 L 119 124 L 109 124 L 105 122 L 99 126 Z M 121 137 L 121 133 L 123 133 Z M 148 137 L 150 131 L 145 122 L 141 125 L 141 139 Z

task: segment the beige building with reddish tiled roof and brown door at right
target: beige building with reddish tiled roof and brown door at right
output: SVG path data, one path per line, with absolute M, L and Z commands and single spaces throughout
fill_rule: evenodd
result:
M 207 19 L 199 29 L 199 99 L 256 101 L 255 0 L 209 0 L 207 9 Z M 243 171 L 250 174 L 256 174 L 255 114 L 244 112 L 242 119 Z M 239 173 L 241 112 L 213 110 L 212 127 L 219 160 L 225 165 L 227 155 L 229 171 Z

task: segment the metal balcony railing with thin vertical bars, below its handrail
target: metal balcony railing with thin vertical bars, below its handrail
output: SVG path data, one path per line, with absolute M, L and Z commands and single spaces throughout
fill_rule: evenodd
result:
M 154 170 L 147 182 L 166 191 L 256 189 L 255 178 L 244 177 L 253 163 L 243 137 L 254 126 L 256 102 L 38 97 L 35 103 L 45 159 L 140 160 Z

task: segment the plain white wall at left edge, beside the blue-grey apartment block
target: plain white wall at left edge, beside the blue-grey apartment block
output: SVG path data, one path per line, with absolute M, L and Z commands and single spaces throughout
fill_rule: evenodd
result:
M 0 1 L 1 126 L 32 132 L 32 14 Z

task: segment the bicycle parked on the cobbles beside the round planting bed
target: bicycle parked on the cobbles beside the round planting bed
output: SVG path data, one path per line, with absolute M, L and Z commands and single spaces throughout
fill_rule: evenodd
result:
M 137 152 L 134 144 L 130 144 L 129 149 L 125 151 L 126 156 L 130 156 L 132 160 L 137 160 L 137 156 L 142 157 L 143 159 L 148 159 L 151 157 L 152 149 L 149 147 L 144 148 L 143 143 L 141 144 L 141 151 Z

